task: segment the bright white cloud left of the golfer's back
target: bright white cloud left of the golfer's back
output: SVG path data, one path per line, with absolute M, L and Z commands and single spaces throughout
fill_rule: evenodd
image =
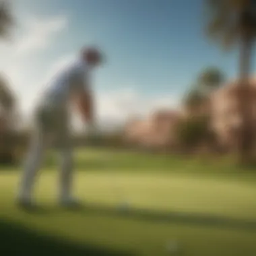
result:
M 38 97 L 38 90 L 42 84 L 42 77 L 35 77 L 28 67 L 34 67 L 38 63 L 32 63 L 30 57 L 49 49 L 59 34 L 67 28 L 68 19 L 64 15 L 52 16 L 44 19 L 26 18 L 19 24 L 24 32 L 18 31 L 15 43 L 0 45 L 0 70 L 9 77 L 11 86 L 18 94 L 22 113 L 29 115 L 32 106 Z M 33 55 L 32 55 L 33 54 Z M 64 60 L 62 60 L 64 61 Z M 61 63 L 55 63 L 55 67 Z M 50 73 L 49 73 L 50 75 Z

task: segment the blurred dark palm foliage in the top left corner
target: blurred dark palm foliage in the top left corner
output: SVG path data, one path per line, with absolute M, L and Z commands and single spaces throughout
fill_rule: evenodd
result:
M 8 38 L 13 26 L 13 15 L 11 15 L 8 1 L 0 0 L 0 37 Z

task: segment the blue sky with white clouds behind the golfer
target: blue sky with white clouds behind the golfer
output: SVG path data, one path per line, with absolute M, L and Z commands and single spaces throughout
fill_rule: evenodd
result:
M 177 104 L 203 67 L 217 65 L 228 77 L 236 74 L 236 52 L 223 53 L 205 39 L 202 3 L 13 0 L 19 22 L 16 42 L 9 46 L 13 59 L 6 72 L 27 110 L 53 67 L 83 44 L 96 43 L 108 59 L 95 79 L 102 116 L 105 110 L 109 112 L 106 117 L 121 117 L 129 105 L 146 111 L 161 102 Z M 0 47 L 0 53 L 10 59 L 5 46 Z M 126 107 L 121 107 L 123 102 Z

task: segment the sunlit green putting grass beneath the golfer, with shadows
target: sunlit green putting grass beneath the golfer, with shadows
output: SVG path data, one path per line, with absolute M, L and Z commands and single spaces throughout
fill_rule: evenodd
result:
M 256 255 L 253 170 L 228 160 L 106 149 L 79 150 L 75 158 L 74 192 L 86 205 L 75 212 L 56 205 L 53 158 L 36 186 L 39 212 L 15 207 L 20 172 L 1 170 L 6 255 Z M 118 210 L 121 201 L 129 201 L 129 212 Z M 170 241 L 178 253 L 168 253 Z

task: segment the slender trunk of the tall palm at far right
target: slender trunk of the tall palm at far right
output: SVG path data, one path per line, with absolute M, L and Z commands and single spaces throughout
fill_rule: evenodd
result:
M 253 161 L 253 111 L 251 86 L 249 84 L 252 46 L 253 40 L 251 38 L 246 36 L 241 38 L 238 90 L 238 102 L 241 110 L 241 134 L 238 138 L 238 153 L 241 164 L 250 164 Z

